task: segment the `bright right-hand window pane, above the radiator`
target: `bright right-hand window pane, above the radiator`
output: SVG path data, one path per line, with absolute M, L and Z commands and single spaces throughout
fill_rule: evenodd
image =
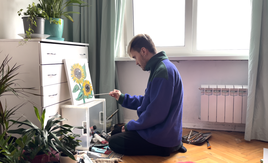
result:
M 198 0 L 197 50 L 249 49 L 250 0 Z

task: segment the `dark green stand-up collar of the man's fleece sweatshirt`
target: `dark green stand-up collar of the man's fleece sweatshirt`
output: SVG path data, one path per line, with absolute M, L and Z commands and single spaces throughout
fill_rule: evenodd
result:
M 146 71 L 151 71 L 151 73 L 153 73 L 155 66 L 159 62 L 161 62 L 162 60 L 165 60 L 165 59 L 168 59 L 168 57 L 166 56 L 166 52 L 165 51 L 161 51 L 161 52 L 155 54 L 147 62 L 146 67 L 145 67 Z

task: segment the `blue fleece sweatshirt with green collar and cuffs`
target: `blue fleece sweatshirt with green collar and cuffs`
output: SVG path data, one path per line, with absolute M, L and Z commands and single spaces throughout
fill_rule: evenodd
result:
M 152 144 L 175 147 L 181 142 L 183 114 L 183 83 L 176 66 L 164 51 L 155 54 L 146 64 L 150 71 L 144 96 L 121 94 L 122 107 L 137 110 L 139 119 L 125 125 L 136 130 Z

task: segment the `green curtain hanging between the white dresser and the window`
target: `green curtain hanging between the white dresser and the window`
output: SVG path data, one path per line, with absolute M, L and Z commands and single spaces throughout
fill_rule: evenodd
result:
M 84 2 L 91 6 L 67 8 L 68 11 L 80 12 L 81 15 L 71 15 L 74 23 L 64 20 L 62 37 L 65 38 L 64 41 L 89 44 L 88 62 L 95 94 L 120 90 L 114 57 L 119 51 L 126 0 L 84 0 Z M 113 117 L 112 124 L 123 123 L 121 105 L 109 95 L 101 95 L 99 98 L 106 99 L 106 116 L 119 109 L 118 114 Z

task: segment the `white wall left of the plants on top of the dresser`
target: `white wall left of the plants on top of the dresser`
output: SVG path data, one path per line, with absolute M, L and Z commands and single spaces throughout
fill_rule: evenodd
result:
M 38 0 L 0 0 L 0 39 L 21 38 L 18 34 L 24 33 L 23 21 L 17 12 L 25 12 L 32 2 L 37 4 Z

